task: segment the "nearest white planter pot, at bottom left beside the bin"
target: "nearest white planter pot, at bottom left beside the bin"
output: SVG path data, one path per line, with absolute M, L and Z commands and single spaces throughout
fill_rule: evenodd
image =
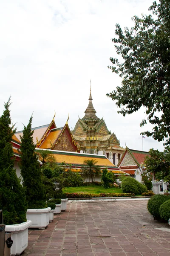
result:
M 11 256 L 20 255 L 28 246 L 28 227 L 32 222 L 26 221 L 20 224 L 6 225 L 5 231 L 11 232 L 13 244 L 11 247 Z

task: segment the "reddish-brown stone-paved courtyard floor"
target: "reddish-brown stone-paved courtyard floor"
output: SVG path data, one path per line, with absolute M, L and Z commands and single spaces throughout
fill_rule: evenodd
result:
M 22 256 L 170 256 L 168 231 L 146 200 L 68 202 L 45 230 L 28 231 Z

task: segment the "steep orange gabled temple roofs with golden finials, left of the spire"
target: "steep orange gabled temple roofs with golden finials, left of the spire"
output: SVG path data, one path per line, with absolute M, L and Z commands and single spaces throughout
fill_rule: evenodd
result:
M 34 131 L 33 141 L 36 148 L 79 152 L 79 147 L 68 126 L 68 119 L 64 127 L 57 128 L 53 118 L 50 124 L 32 128 L 32 131 Z M 16 132 L 15 136 L 20 140 L 23 131 Z

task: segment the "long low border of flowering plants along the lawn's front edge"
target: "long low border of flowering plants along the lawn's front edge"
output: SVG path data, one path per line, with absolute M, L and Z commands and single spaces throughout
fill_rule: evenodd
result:
M 133 196 L 131 193 L 66 193 L 67 198 L 105 198 L 105 197 L 122 197 Z

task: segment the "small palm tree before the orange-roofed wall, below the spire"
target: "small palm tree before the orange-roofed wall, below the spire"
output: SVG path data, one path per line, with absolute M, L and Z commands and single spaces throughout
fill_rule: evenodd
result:
M 99 175 L 101 173 L 101 168 L 99 166 L 96 166 L 97 161 L 95 159 L 87 159 L 84 160 L 84 166 L 82 167 L 82 177 L 89 180 L 91 178 L 91 181 L 93 182 L 93 177 L 95 175 Z

